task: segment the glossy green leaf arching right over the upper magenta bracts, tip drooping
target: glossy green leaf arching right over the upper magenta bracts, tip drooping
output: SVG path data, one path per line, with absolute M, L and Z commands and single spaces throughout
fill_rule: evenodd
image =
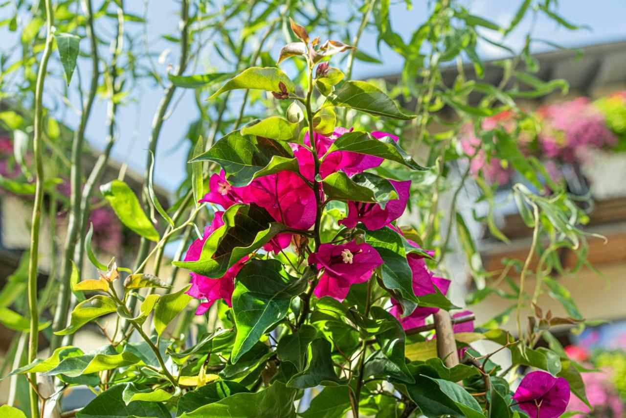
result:
M 414 162 L 411 156 L 406 154 L 393 138 L 382 137 L 381 139 L 376 139 L 367 132 L 354 131 L 344 133 L 333 142 L 326 155 L 331 154 L 333 151 L 352 151 L 359 154 L 374 155 L 404 164 L 411 170 L 427 170 Z

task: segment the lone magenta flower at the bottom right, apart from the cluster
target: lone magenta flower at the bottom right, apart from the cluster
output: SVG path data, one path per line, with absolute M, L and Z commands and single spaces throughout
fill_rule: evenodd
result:
M 529 417 L 556 418 L 570 401 L 570 384 L 546 372 L 531 372 L 521 380 L 513 399 Z

